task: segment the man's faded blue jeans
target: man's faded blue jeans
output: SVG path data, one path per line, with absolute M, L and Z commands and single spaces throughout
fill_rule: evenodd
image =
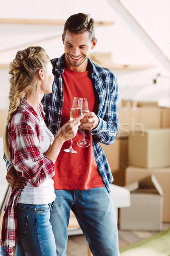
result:
M 94 256 L 119 256 L 119 242 L 113 198 L 106 187 L 87 190 L 55 190 L 51 211 L 57 256 L 66 256 L 70 210 L 88 241 Z

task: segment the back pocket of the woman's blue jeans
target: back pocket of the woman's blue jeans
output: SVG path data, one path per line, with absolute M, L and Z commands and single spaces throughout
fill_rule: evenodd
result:
M 17 213 L 17 237 L 25 238 L 28 216 Z

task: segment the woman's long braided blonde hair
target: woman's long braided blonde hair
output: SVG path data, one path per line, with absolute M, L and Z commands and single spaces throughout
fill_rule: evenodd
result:
M 28 95 L 31 95 L 37 89 L 38 71 L 42 69 L 46 72 L 48 61 L 50 59 L 45 50 L 37 46 L 18 51 L 15 59 L 10 63 L 11 87 L 8 97 L 10 102 L 4 131 L 4 150 L 9 162 L 11 162 L 11 159 L 9 156 L 8 125 L 23 99 L 26 99 Z

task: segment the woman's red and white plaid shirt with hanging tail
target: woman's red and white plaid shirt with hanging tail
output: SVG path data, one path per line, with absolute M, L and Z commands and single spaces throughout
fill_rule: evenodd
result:
M 42 104 L 39 109 L 45 119 Z M 40 122 L 40 116 L 24 99 L 9 125 L 11 161 L 14 168 L 22 172 L 22 177 L 35 187 L 55 174 L 52 160 L 45 157 L 41 150 L 44 140 Z M 12 189 L 3 216 L 0 245 L 7 246 L 10 256 L 13 256 L 13 246 L 17 239 L 17 201 L 20 192 L 21 189 Z

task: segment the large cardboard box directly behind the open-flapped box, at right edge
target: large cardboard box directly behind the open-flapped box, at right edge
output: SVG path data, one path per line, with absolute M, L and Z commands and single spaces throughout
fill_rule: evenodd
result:
M 142 180 L 151 174 L 155 175 L 164 193 L 163 221 L 170 222 L 170 168 L 146 169 L 128 166 L 125 171 L 125 184 L 136 180 L 142 183 Z

